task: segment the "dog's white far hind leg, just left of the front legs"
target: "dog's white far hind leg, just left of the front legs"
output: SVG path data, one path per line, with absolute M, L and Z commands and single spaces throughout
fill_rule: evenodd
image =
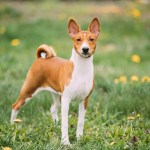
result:
M 58 113 L 58 108 L 60 106 L 60 95 L 52 93 L 52 97 L 53 97 L 54 103 L 50 108 L 50 112 L 52 114 L 52 118 L 53 118 L 54 122 L 57 123 L 59 121 L 57 113 Z

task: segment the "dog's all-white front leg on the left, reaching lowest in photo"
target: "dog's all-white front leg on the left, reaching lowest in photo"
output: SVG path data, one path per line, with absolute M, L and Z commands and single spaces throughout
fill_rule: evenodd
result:
M 68 136 L 68 111 L 69 111 L 70 99 L 62 96 L 61 98 L 61 132 L 62 138 L 61 143 L 64 145 L 69 145 L 69 136 Z

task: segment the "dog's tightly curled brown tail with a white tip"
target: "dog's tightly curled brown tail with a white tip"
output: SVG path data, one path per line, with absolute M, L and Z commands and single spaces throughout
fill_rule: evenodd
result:
M 41 45 L 36 52 L 37 58 L 50 58 L 54 56 L 56 56 L 56 53 L 54 52 L 53 48 L 46 44 Z

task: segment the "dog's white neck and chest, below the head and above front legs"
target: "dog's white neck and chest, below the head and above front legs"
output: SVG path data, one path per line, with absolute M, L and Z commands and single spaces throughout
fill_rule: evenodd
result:
M 65 87 L 64 94 L 70 99 L 85 99 L 93 86 L 93 58 L 82 58 L 73 54 L 71 61 L 74 63 L 74 70 L 70 83 Z

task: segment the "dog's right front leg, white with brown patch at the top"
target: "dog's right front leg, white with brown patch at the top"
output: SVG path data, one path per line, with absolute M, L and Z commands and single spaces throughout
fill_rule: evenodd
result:
M 85 118 L 85 102 L 86 101 L 81 101 L 79 104 L 79 114 L 78 114 L 78 126 L 77 126 L 77 132 L 76 132 L 76 137 L 79 139 L 83 135 L 83 128 L 84 128 L 84 118 Z

